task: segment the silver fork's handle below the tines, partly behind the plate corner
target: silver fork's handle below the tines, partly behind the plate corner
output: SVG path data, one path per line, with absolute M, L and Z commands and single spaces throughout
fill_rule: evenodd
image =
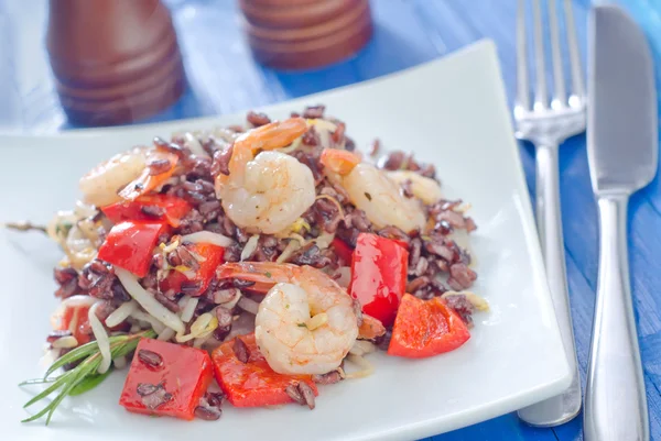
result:
M 562 395 L 519 410 L 519 418 L 535 427 L 562 425 L 574 418 L 581 410 L 581 376 L 574 348 L 560 214 L 557 150 L 557 145 L 535 145 L 537 223 L 553 308 L 573 378 L 570 387 Z

